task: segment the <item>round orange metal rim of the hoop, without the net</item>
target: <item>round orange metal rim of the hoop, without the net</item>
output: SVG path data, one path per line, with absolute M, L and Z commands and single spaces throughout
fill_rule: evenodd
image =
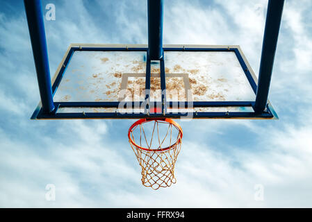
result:
M 136 126 L 138 126 L 138 125 L 140 125 L 140 124 L 142 124 L 142 123 L 146 123 L 146 122 L 149 122 L 149 121 L 157 121 L 157 120 L 159 120 L 159 121 L 165 121 L 165 122 L 170 123 L 170 124 L 172 124 L 173 126 L 175 126 L 175 127 L 179 130 L 179 133 L 180 133 L 179 139 L 178 139 L 174 144 L 172 144 L 171 146 L 167 146 L 166 148 L 160 148 L 160 149 L 149 149 L 149 148 L 144 148 L 144 147 L 139 146 L 138 144 L 136 144 L 136 143 L 133 141 L 133 139 L 131 138 L 131 132 L 132 132 L 133 128 L 136 127 Z M 172 119 L 168 119 L 168 118 L 139 119 L 138 121 L 136 121 L 135 123 L 133 123 L 133 124 L 130 126 L 129 130 L 128 130 L 129 142 L 130 142 L 131 144 L 133 144 L 133 146 L 136 146 L 137 148 L 140 148 L 140 149 L 142 149 L 142 150 L 144 150 L 144 151 L 153 151 L 153 152 L 166 151 L 166 150 L 168 150 L 168 149 L 170 149 L 170 148 L 176 146 L 177 144 L 181 143 L 182 136 L 183 136 L 183 131 L 182 131 L 181 126 L 180 126 L 178 123 L 176 123 L 176 121 L 173 121 Z

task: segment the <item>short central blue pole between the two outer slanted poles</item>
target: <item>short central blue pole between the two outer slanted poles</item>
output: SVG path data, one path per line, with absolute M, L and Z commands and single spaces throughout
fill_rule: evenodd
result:
M 149 59 L 160 60 L 163 56 L 163 0 L 147 1 L 149 30 Z

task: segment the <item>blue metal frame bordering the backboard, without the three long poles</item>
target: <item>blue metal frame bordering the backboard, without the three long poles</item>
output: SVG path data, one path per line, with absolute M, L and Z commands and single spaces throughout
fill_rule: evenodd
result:
M 60 84 L 63 75 L 65 73 L 66 67 L 69 64 L 70 59 L 72 58 L 75 51 L 145 51 L 148 56 L 148 48 L 136 48 L 136 47 L 120 47 L 120 48 L 111 48 L 111 47 L 85 47 L 85 46 L 72 46 L 65 57 L 65 62 L 62 65 L 62 68 L 58 72 L 55 81 L 52 85 L 53 94 L 56 93 L 58 85 Z M 247 63 L 245 62 L 243 56 L 240 54 L 240 51 L 237 47 L 220 47 L 220 48 L 192 48 L 192 47 L 179 47 L 179 48 L 163 48 L 163 51 L 226 51 L 234 52 L 240 65 L 246 75 L 249 84 L 251 85 L 254 93 L 256 94 L 256 82 L 249 71 Z M 164 56 L 163 56 L 164 58 Z M 147 59 L 147 76 L 146 76 L 146 89 L 150 89 L 150 67 L 151 62 Z M 161 89 L 165 89 L 165 62 L 164 59 L 161 59 Z M 165 90 L 164 90 L 165 91 Z M 274 119 L 277 118 L 272 107 L 269 107 L 263 112 L 193 112 L 190 113 L 169 113 L 167 108 L 176 108 L 176 107 L 254 107 L 255 101 L 206 101 L 206 102 L 167 102 L 165 99 L 165 94 L 162 96 L 161 102 L 149 102 L 149 90 L 146 91 L 145 101 L 141 102 L 132 102 L 127 103 L 128 107 L 132 108 L 145 107 L 145 112 L 140 113 L 130 113 L 130 114 L 120 114 L 119 112 L 70 112 L 70 113 L 60 113 L 58 108 L 118 108 L 120 102 L 54 102 L 56 107 L 55 112 L 44 113 L 42 112 L 42 107 L 39 106 L 33 113 L 32 119 L 142 119 L 142 118 L 155 118 L 155 117 L 167 117 L 167 118 L 181 118 L 181 117 L 192 117 L 192 118 L 216 118 L 216 119 Z M 142 106 L 142 103 L 145 103 L 145 106 Z M 162 107 L 161 113 L 150 113 L 150 107 Z M 164 115 L 165 114 L 165 115 Z

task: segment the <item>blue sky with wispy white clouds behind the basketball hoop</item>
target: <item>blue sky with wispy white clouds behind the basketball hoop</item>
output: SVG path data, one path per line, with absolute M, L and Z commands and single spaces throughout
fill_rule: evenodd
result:
M 47 3 L 56 6 L 56 21 L 44 21 L 52 75 L 71 43 L 147 44 L 146 1 Z M 163 43 L 239 44 L 258 74 L 266 5 L 165 1 Z M 311 1 L 284 6 L 270 89 L 279 120 L 179 122 L 177 182 L 158 191 L 140 183 L 133 121 L 30 120 L 40 96 L 24 5 L 0 6 L 1 207 L 312 207 Z

